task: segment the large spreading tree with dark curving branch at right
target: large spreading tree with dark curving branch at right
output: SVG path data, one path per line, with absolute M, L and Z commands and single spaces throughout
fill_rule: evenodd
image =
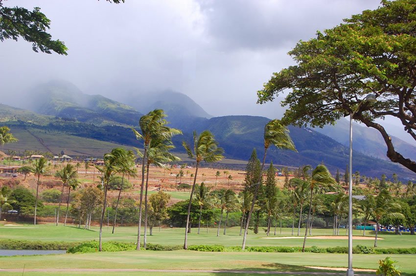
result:
M 381 3 L 300 41 L 289 52 L 297 65 L 274 73 L 257 92 L 257 102 L 292 89 L 282 101 L 288 107 L 282 121 L 298 126 L 323 127 L 353 114 L 380 132 L 391 161 L 416 172 L 415 161 L 396 152 L 385 128 L 374 121 L 394 117 L 416 140 L 416 0 Z M 369 93 L 377 102 L 360 104 Z

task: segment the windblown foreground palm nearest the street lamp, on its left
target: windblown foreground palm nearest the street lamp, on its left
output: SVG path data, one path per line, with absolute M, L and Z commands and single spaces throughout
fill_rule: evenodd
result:
M 308 235 L 308 226 L 309 226 L 310 219 L 311 219 L 313 191 L 315 187 L 324 187 L 324 186 L 329 186 L 335 183 L 336 183 L 335 179 L 332 177 L 331 173 L 328 171 L 328 169 L 324 165 L 318 165 L 313 170 L 311 177 L 308 179 L 308 184 L 310 187 L 310 200 L 309 200 L 308 220 L 306 223 L 306 230 L 305 230 L 305 237 L 303 239 L 302 252 L 305 252 L 306 236 Z M 352 231 L 352 229 L 350 229 L 350 231 Z

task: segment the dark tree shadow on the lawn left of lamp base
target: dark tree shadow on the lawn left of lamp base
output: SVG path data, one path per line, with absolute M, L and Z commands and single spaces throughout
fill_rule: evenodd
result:
M 249 276 L 249 275 L 287 275 L 287 276 L 305 276 L 305 275 L 328 275 L 328 276 L 344 276 L 346 272 L 344 271 L 333 271 L 333 270 L 321 270 L 321 269 L 311 269 L 303 266 L 296 265 L 287 265 L 280 263 L 271 263 L 263 265 L 264 268 L 244 268 L 244 270 L 219 270 L 214 272 L 213 275 L 238 275 L 238 276 Z M 245 273 L 247 271 L 247 273 Z M 356 276 L 372 276 L 373 273 L 360 272 L 354 273 Z

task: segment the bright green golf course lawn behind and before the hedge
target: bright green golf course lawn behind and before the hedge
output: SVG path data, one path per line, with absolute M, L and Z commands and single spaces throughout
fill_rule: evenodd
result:
M 279 233 L 279 231 L 277 231 Z M 330 234 L 331 230 L 314 229 L 314 235 Z M 227 230 L 227 235 L 220 232 L 216 237 L 216 229 L 202 230 L 200 235 L 196 229 L 189 234 L 188 244 L 222 244 L 225 246 L 239 246 L 242 236 L 239 236 L 239 228 Z M 283 229 L 282 236 L 290 236 L 290 229 Z M 360 231 L 354 231 L 359 235 Z M 411 235 L 380 235 L 379 247 L 415 247 L 416 237 Z M 58 226 L 52 224 L 44 225 L 22 225 L 22 226 L 0 226 L 0 237 L 2 239 L 28 239 L 28 240 L 61 240 L 82 241 L 98 240 L 98 228 L 92 230 L 77 229 L 73 226 Z M 264 233 L 248 235 L 247 246 L 301 246 L 302 239 L 264 239 Z M 116 233 L 111 234 L 111 227 L 103 229 L 103 240 L 119 240 L 136 242 L 137 227 L 119 227 Z M 153 230 L 153 236 L 148 236 L 149 243 L 182 245 L 184 242 L 184 229 L 158 228 Z M 347 240 L 336 239 L 309 239 L 307 246 L 333 247 L 347 246 Z M 363 244 L 372 246 L 373 240 L 354 241 L 354 245 Z M 385 258 L 381 254 L 354 254 L 353 264 L 355 268 L 377 267 L 377 261 Z M 416 255 L 391 255 L 397 260 L 402 271 L 407 275 L 416 275 Z M 190 261 L 191 260 L 191 261 Z M 6 268 L 139 268 L 139 269 L 206 269 L 206 270 L 280 270 L 280 271 L 305 271 L 303 266 L 330 266 L 345 267 L 347 254 L 318 254 L 318 253 L 205 253 L 195 251 L 132 251 L 119 253 L 85 253 L 65 254 L 48 256 L 14 256 L 0 257 L 0 267 Z M 308 271 L 306 269 L 306 271 Z M 32 274 L 32 273 L 31 273 Z M 41 273 L 33 273 L 33 275 Z M 65 273 L 62 273 L 65 274 Z M 84 273 L 80 273 L 84 274 Z M 92 274 L 92 273 L 85 273 Z M 124 274 L 124 273 L 123 273 Z M 129 273 L 138 275 L 140 273 Z M 143 273 L 141 273 L 143 274 Z M 144 273 L 148 274 L 148 273 Z M 143 275 L 144 275 L 143 274 Z M 217 273 L 214 273 L 217 274 Z M 207 273 L 206 275 L 214 275 Z M 16 274 L 17 275 L 17 274 Z M 154 273 L 152 275 L 162 275 Z M 179 274 L 178 274 L 179 275 Z M 183 275 L 181 273 L 181 275 Z M 192 274 L 190 274 L 192 275 Z

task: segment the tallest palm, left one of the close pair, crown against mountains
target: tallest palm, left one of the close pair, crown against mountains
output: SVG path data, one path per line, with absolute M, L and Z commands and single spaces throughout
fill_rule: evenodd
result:
M 143 188 L 144 188 L 144 172 L 146 168 L 146 158 L 147 151 L 150 146 L 152 139 L 159 140 L 168 140 L 174 135 L 182 134 L 180 130 L 170 128 L 167 126 L 167 121 L 164 119 L 166 114 L 164 114 L 162 109 L 155 109 L 149 112 L 146 115 L 140 117 L 139 127 L 141 134 L 132 128 L 133 133 L 136 136 L 136 139 L 143 140 L 143 158 L 141 161 L 141 186 L 140 186 L 140 199 L 139 199 L 139 225 L 137 231 L 137 250 L 140 250 L 140 232 L 141 232 L 141 219 L 142 219 L 142 202 L 143 202 Z

